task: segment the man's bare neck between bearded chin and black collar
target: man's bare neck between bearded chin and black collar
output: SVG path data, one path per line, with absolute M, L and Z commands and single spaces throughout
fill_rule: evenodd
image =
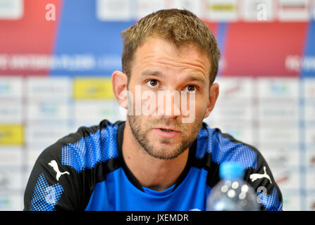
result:
M 128 120 L 123 133 L 123 159 L 141 186 L 164 191 L 173 186 L 183 172 L 189 150 L 171 160 L 161 160 L 149 155 L 132 134 Z

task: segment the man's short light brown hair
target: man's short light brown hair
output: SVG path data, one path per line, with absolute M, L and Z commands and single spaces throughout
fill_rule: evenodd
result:
M 176 46 L 197 45 L 202 53 L 206 52 L 211 63 L 210 85 L 218 73 L 221 53 L 216 38 L 209 27 L 196 15 L 187 10 L 165 9 L 151 13 L 135 25 L 124 30 L 122 66 L 123 72 L 130 77 L 135 51 L 149 37 L 166 39 Z

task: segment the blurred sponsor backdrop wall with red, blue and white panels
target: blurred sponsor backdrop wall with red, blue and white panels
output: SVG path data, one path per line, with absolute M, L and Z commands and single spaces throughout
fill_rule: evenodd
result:
M 256 146 L 284 210 L 315 210 L 315 1 L 0 0 L 0 210 L 22 210 L 39 153 L 82 125 L 125 120 L 111 73 L 121 31 L 187 8 L 222 51 L 205 120 Z

